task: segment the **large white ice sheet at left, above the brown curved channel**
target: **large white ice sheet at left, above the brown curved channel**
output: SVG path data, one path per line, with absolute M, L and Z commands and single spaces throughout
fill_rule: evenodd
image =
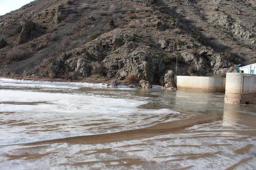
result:
M 0 145 L 124 131 L 184 118 L 170 109 L 138 108 L 146 101 L 82 94 L 0 90 L 0 103 L 0 112 L 6 112 L 0 114 Z

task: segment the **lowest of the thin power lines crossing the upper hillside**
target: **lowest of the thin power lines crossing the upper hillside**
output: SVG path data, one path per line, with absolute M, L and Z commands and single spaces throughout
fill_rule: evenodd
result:
M 144 8 L 130 8 L 130 9 L 122 9 L 122 10 L 111 10 L 111 11 L 99 11 L 99 12 L 87 12 L 87 13 L 80 13 L 80 14 L 68 14 L 68 15 L 60 15 L 58 17 L 62 16 L 76 16 L 76 15 L 86 15 L 86 14 L 98 14 L 98 13 L 106 13 L 106 12 L 120 12 L 120 11 L 129 11 L 129 10 L 144 10 L 144 9 L 150 9 L 150 8 L 168 8 L 168 7 L 176 7 L 176 6 L 192 6 L 195 4 L 182 4 L 182 5 L 170 5 L 170 6 L 156 6 L 156 7 L 144 7 Z M 200 5 L 200 4 L 196 4 Z M 34 17 L 36 18 L 36 17 Z M 30 20 L 34 18 L 23 18 L 23 19 L 10 19 L 10 20 Z M 42 17 L 42 18 L 52 18 L 50 17 Z

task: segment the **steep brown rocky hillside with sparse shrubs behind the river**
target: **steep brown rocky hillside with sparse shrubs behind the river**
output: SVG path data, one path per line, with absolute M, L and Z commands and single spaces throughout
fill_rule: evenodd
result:
M 256 62 L 255 18 L 254 0 L 36 0 L 0 17 L 0 75 L 225 76 Z

